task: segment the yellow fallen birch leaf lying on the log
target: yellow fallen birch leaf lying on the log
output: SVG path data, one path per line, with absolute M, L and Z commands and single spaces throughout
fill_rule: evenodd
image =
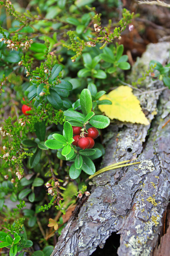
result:
M 112 101 L 112 105 L 99 105 L 99 109 L 101 112 L 105 112 L 105 115 L 110 119 L 145 125 L 150 124 L 142 112 L 139 100 L 133 95 L 130 87 L 121 85 L 109 92 L 109 94 L 99 98 L 99 100 L 104 99 Z

